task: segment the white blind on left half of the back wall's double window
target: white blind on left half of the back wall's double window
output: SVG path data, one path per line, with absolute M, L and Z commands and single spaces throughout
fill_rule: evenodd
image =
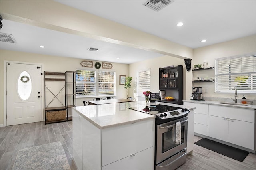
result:
M 76 95 L 96 95 L 96 71 L 76 70 Z

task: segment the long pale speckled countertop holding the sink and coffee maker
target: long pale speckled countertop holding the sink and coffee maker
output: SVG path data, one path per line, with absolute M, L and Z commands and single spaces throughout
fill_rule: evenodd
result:
M 250 105 L 250 104 L 239 104 L 239 105 L 230 105 L 230 104 L 223 104 L 223 102 L 220 101 L 210 101 L 210 100 L 184 100 L 183 102 L 190 102 L 190 103 L 202 103 L 202 104 L 209 104 L 209 105 L 220 105 L 220 106 L 228 106 L 228 107 L 240 107 L 244 109 L 255 109 L 256 105 Z M 230 103 L 230 102 L 228 102 Z

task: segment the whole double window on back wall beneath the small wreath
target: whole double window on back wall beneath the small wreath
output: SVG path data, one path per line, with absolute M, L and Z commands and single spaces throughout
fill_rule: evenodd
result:
M 76 96 L 115 95 L 115 77 L 113 71 L 76 70 Z

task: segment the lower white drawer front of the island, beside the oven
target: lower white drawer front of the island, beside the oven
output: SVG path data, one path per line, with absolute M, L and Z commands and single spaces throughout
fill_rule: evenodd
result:
M 102 170 L 154 170 L 154 146 L 102 167 Z

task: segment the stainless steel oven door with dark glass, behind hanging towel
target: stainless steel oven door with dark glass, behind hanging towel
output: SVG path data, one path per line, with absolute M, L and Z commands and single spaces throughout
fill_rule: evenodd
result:
M 181 144 L 175 144 L 175 122 L 180 121 Z M 156 164 L 170 158 L 187 147 L 188 117 L 157 125 Z

